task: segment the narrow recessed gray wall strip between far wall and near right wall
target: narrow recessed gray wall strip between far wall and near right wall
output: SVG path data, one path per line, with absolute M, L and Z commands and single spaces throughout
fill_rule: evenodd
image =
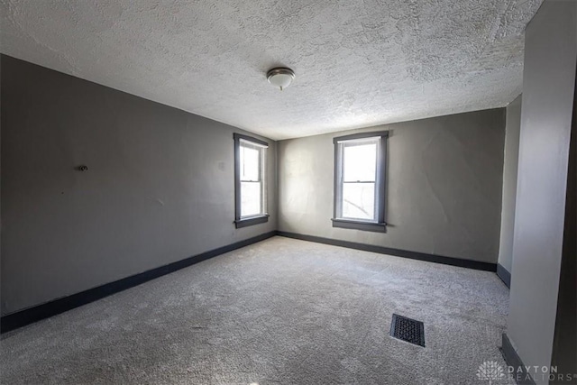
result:
M 519 160 L 519 133 L 521 131 L 521 97 L 507 106 L 505 127 L 505 160 L 503 163 L 503 205 L 499 264 L 511 272 L 513 263 L 513 230 L 515 228 L 515 198 L 517 197 L 517 165 Z

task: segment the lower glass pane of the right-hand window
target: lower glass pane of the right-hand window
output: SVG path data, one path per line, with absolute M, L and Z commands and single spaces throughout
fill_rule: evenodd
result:
M 343 218 L 375 220 L 374 183 L 343 183 Z

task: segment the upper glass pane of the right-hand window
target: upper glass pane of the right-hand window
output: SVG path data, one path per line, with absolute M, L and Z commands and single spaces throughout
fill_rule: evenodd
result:
M 377 168 L 377 143 L 369 142 L 356 145 L 344 145 L 343 180 L 375 181 Z

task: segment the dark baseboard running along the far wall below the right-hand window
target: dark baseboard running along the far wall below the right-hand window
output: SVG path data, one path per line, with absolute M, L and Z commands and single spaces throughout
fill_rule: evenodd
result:
M 459 266 L 462 268 L 475 269 L 475 270 L 485 270 L 493 272 L 497 270 L 496 263 L 463 260 L 460 258 L 426 254 L 425 252 L 408 252 L 406 250 L 398 250 L 398 249 L 391 249 L 389 247 L 374 246 L 365 243 L 354 243 L 330 238 L 322 238 L 320 236 L 314 236 L 314 235 L 295 234 L 283 231 L 278 231 L 277 234 L 288 238 L 300 239 L 302 241 L 331 244 L 333 246 L 341 246 L 341 247 L 347 247 L 349 249 L 362 250 L 363 252 L 379 252 L 380 254 L 389 254 L 394 255 L 396 257 L 409 258 L 411 260 L 444 263 L 445 265 Z

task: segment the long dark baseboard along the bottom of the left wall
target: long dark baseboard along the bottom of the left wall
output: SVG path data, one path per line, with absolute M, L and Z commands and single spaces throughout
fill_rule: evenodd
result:
M 90 302 L 94 302 L 97 299 L 110 296 L 119 291 L 133 288 L 134 286 L 140 285 L 141 283 L 154 280 L 155 278 L 159 278 L 176 270 L 194 265 L 200 261 L 206 261 L 209 258 L 224 254 L 224 252 L 232 252 L 252 243 L 264 241 L 265 239 L 268 239 L 276 234 L 277 232 L 274 231 L 261 234 L 244 241 L 219 247 L 218 249 L 211 250 L 209 252 L 203 252 L 181 261 L 172 262 L 168 265 L 160 266 L 156 269 L 144 271 L 142 273 L 126 277 L 122 280 L 115 280 L 114 282 L 106 283 L 105 285 L 98 286 L 94 289 L 87 289 L 68 297 L 54 299 L 50 302 L 35 307 L 29 307 L 12 314 L 2 316 L 2 318 L 0 318 L 0 333 L 6 333 L 18 327 L 40 321 L 41 319 L 48 318 L 50 316 L 56 316 L 75 307 L 80 307 Z

